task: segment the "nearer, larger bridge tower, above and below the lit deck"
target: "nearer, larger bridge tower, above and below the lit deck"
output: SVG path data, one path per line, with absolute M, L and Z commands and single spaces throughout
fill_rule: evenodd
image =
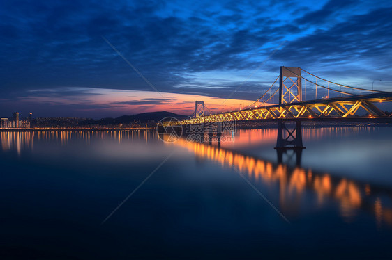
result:
M 279 105 L 302 101 L 301 67 L 280 67 Z M 296 120 L 294 129 L 290 129 L 285 120 L 278 121 L 276 148 L 278 158 L 282 149 L 303 149 L 301 120 Z

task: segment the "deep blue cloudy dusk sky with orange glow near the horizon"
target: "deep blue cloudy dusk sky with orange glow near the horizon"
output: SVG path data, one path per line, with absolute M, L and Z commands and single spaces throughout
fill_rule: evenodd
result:
M 0 116 L 227 111 L 280 66 L 392 91 L 391 14 L 377 0 L 2 0 Z

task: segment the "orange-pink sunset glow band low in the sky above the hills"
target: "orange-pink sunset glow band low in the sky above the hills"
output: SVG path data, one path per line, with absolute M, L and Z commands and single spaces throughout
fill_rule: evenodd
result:
M 67 93 L 72 93 L 67 95 Z M 75 96 L 74 92 L 80 95 Z M 61 95 L 54 95 L 61 93 Z M 112 90 L 105 88 L 59 88 L 51 95 L 41 90 L 31 91 L 29 97 L 20 98 L 25 103 L 50 104 L 63 106 L 90 106 L 77 108 L 77 111 L 102 111 L 125 114 L 170 111 L 190 115 L 195 109 L 195 101 L 202 100 L 213 112 L 236 110 L 253 103 L 244 99 L 223 99 L 203 95 L 178 94 L 142 90 Z

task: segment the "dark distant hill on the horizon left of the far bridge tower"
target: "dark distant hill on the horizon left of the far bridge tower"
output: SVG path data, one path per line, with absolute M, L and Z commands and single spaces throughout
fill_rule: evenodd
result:
M 138 123 L 147 123 L 147 122 L 159 122 L 161 119 L 165 117 L 176 117 L 177 119 L 185 119 L 187 115 L 179 115 L 167 111 L 160 111 L 160 112 L 149 112 L 149 113 L 141 113 L 136 115 L 122 115 L 121 117 L 107 117 L 102 118 L 100 120 L 84 120 L 80 122 L 80 125 L 86 124 L 100 124 L 100 125 L 107 125 L 107 124 L 130 124 L 133 122 Z

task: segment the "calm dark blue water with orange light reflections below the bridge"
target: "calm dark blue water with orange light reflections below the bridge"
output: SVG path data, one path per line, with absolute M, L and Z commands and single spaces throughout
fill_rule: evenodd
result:
M 389 257 L 389 127 L 303 129 L 282 163 L 276 129 L 0 134 L 1 259 Z

